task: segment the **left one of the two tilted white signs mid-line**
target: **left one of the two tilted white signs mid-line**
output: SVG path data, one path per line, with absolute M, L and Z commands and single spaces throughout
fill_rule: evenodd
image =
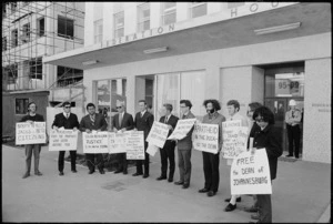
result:
M 147 138 L 147 142 L 149 142 L 152 145 L 163 147 L 168 138 L 168 124 L 154 121 Z

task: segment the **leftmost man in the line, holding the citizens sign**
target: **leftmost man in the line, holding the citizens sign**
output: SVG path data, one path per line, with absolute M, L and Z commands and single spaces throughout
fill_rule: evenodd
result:
M 34 102 L 28 104 L 28 115 L 24 115 L 20 122 L 29 122 L 33 124 L 36 121 L 44 121 L 44 118 L 41 114 L 36 113 L 37 105 Z M 27 179 L 30 176 L 31 169 L 31 157 L 33 153 L 34 157 L 34 174 L 41 176 L 42 173 L 39 171 L 39 155 L 40 155 L 41 144 L 26 144 L 26 173 L 22 176 Z

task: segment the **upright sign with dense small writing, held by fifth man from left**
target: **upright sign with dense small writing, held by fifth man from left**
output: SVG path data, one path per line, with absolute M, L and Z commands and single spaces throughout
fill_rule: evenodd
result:
M 127 160 L 144 160 L 143 131 L 130 132 L 127 144 Z

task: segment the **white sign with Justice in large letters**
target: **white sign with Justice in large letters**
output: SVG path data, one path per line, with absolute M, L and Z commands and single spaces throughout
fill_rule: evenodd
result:
M 109 153 L 109 132 L 82 133 L 83 153 Z

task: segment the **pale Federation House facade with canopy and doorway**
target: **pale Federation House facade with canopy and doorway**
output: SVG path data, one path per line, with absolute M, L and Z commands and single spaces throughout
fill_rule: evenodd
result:
M 287 151 L 284 114 L 303 111 L 302 159 L 331 163 L 331 4 L 297 2 L 87 2 L 84 48 L 46 63 L 84 70 L 84 104 L 128 112 L 189 99 L 250 102 L 274 112 Z M 313 119 L 320 118 L 320 119 Z

